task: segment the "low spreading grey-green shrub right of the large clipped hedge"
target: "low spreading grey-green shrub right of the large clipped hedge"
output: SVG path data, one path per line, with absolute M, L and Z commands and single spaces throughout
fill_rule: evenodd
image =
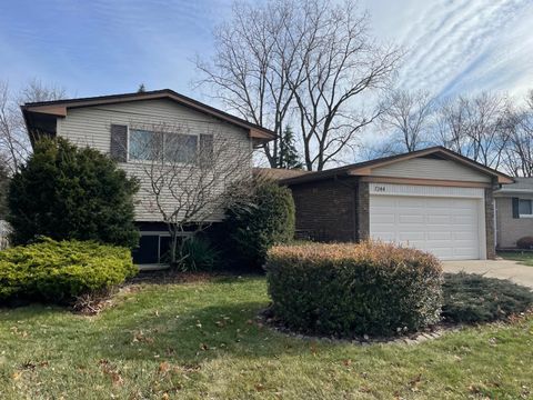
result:
M 442 289 L 442 317 L 447 322 L 492 322 L 533 307 L 533 291 L 503 279 L 446 273 Z

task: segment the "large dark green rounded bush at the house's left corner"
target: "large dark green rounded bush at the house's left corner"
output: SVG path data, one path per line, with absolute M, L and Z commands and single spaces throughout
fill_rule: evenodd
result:
M 139 242 L 133 199 L 138 189 L 138 180 L 108 154 L 63 138 L 40 139 L 10 181 L 10 242 L 28 244 L 42 236 L 132 249 Z

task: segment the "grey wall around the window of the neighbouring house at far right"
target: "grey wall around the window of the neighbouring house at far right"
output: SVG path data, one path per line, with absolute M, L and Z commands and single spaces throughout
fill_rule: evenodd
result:
M 533 197 L 520 196 L 522 199 Z M 513 218 L 512 197 L 497 197 L 496 200 L 496 247 L 514 248 L 516 240 L 533 236 L 533 218 Z

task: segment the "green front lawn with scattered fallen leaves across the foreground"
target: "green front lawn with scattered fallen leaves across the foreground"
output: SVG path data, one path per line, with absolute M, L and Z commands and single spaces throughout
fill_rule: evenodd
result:
M 263 278 L 144 284 L 98 317 L 0 310 L 1 399 L 531 399 L 533 318 L 416 346 L 302 340 Z

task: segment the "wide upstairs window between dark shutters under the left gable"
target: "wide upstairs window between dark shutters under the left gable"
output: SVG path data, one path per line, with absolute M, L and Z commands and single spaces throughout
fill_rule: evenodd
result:
M 198 136 L 130 129 L 130 161 L 194 163 Z

